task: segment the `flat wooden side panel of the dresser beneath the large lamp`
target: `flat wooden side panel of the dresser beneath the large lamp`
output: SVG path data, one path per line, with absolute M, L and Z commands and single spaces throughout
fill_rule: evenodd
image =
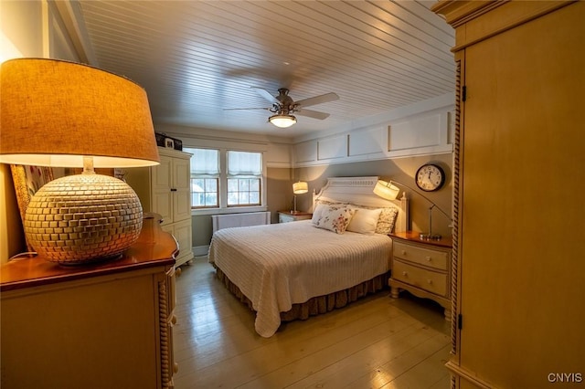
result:
M 158 301 L 144 270 L 3 292 L 2 387 L 160 389 Z

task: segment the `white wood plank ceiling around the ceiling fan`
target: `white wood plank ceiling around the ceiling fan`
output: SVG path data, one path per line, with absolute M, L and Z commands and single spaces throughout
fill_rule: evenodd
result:
M 81 0 L 95 65 L 147 91 L 155 123 L 298 136 L 454 90 L 454 34 L 429 1 Z M 289 129 L 271 103 L 335 92 Z

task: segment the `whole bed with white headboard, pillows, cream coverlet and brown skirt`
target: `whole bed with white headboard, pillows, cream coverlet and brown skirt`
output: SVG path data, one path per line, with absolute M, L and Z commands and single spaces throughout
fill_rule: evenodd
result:
M 341 308 L 388 285 L 388 232 L 407 229 L 408 200 L 374 195 L 377 180 L 329 178 L 313 195 L 311 220 L 214 233 L 209 262 L 256 312 L 262 337 L 271 337 L 282 321 Z

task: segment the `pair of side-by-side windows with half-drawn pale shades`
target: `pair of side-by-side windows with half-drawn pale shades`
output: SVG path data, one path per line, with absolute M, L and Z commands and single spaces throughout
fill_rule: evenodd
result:
M 262 204 L 262 153 L 186 148 L 191 157 L 192 207 Z

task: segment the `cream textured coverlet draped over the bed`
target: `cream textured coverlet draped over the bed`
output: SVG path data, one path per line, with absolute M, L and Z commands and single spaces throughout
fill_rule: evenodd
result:
M 255 329 L 271 337 L 294 303 L 353 287 L 389 270 L 390 237 L 335 232 L 310 220 L 234 227 L 214 234 L 209 262 L 251 300 Z

